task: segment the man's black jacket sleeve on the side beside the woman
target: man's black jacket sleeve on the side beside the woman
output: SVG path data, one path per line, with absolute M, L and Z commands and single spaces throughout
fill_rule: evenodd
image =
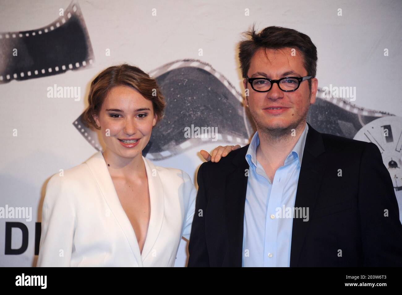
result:
M 209 267 L 207 241 L 205 239 L 205 216 L 207 214 L 207 197 L 203 181 L 203 166 L 201 164 L 197 173 L 198 193 L 195 203 L 195 214 L 191 228 L 189 242 L 188 267 Z

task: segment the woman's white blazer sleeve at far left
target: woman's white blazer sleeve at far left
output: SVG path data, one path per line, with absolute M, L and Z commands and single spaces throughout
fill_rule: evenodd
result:
M 70 266 L 75 230 L 70 187 L 66 179 L 58 174 L 53 175 L 47 184 L 42 208 L 38 267 Z

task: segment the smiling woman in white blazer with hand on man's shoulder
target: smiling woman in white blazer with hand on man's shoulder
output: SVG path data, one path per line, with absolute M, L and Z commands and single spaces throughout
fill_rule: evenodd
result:
M 184 171 L 142 156 L 165 106 L 156 80 L 127 64 L 109 67 L 92 81 L 88 102 L 84 119 L 102 131 L 106 149 L 50 178 L 37 265 L 172 267 L 197 192 Z M 219 146 L 212 157 L 232 149 Z

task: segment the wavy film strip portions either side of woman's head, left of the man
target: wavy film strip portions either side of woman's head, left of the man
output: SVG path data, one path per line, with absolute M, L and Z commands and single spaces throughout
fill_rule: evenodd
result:
M 240 92 L 208 63 L 183 59 L 150 71 L 166 99 L 163 120 L 154 127 L 144 157 L 162 160 L 201 146 L 211 138 L 185 138 L 185 127 L 217 127 L 216 143 L 244 146 L 254 129 L 243 106 Z M 97 150 L 103 148 L 96 131 L 83 123 L 83 114 L 73 122 L 76 129 Z

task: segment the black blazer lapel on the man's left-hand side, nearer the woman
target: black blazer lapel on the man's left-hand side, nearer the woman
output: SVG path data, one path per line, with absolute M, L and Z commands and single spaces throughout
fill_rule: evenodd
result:
M 232 164 L 232 172 L 226 179 L 226 222 L 228 229 L 229 261 L 234 267 L 242 266 L 243 255 L 243 230 L 244 230 L 244 205 L 248 176 L 246 169 L 246 153 L 248 145 L 242 147 Z

